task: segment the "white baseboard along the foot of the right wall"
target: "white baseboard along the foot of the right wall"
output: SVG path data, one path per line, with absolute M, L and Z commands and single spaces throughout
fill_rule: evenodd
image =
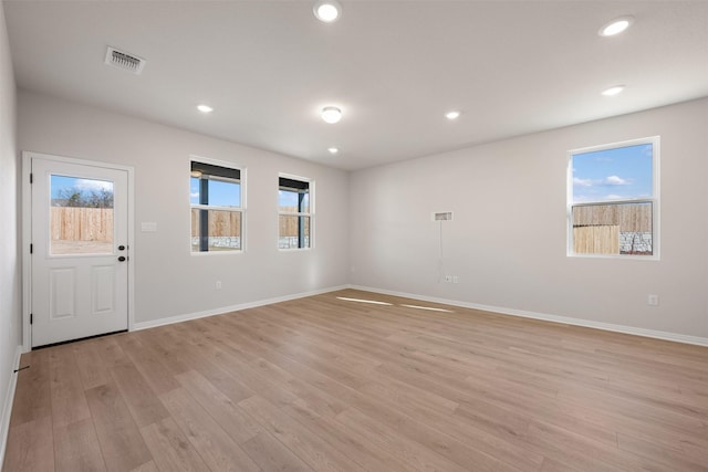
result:
M 403 296 L 406 298 L 421 300 L 425 302 L 440 303 L 444 305 L 459 306 L 462 308 L 480 310 L 483 312 L 500 313 L 502 315 L 521 316 L 524 318 L 542 319 L 552 323 L 562 323 L 565 325 L 584 326 L 589 328 L 610 331 L 615 333 L 632 334 L 635 336 L 653 337 L 656 339 L 673 340 L 676 343 L 695 344 L 698 346 L 708 346 L 708 338 L 689 336 L 678 333 L 669 333 L 655 329 L 645 329 L 633 326 L 615 325 L 612 323 L 593 322 L 590 319 L 570 318 L 566 316 L 549 315 L 544 313 L 527 312 L 523 310 L 506 308 L 502 306 L 480 305 L 477 303 L 458 302 L 455 300 L 437 298 L 431 296 L 416 295 L 414 293 L 396 292 L 371 286 L 351 285 L 351 289 L 363 290 L 366 292 L 381 293 L 384 295 Z

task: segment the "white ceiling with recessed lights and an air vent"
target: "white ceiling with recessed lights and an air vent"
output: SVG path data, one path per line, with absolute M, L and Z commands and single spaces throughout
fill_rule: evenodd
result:
M 331 24 L 313 3 L 3 1 L 22 88 L 343 169 L 708 96 L 706 1 L 341 0 Z

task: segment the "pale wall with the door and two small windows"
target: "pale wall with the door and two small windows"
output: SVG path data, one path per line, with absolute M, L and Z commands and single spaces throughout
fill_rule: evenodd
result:
M 135 168 L 131 261 L 138 324 L 348 282 L 346 172 L 25 91 L 19 94 L 18 116 L 21 150 Z M 190 155 L 247 168 L 244 253 L 190 253 Z M 278 250 L 279 172 L 315 181 L 312 250 Z M 156 222 L 157 232 L 140 232 L 142 222 Z

